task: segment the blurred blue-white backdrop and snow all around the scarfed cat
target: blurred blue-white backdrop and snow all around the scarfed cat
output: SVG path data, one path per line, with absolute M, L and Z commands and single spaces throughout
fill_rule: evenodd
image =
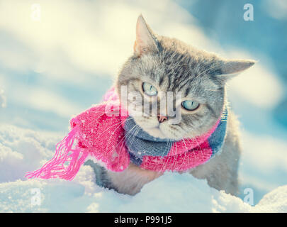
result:
M 254 21 L 243 19 L 247 3 Z M 167 173 L 136 196 L 96 186 L 88 166 L 72 182 L 24 177 L 111 87 L 140 13 L 156 33 L 259 60 L 228 86 L 242 131 L 239 197 L 188 174 Z M 286 28 L 284 0 L 0 1 L 0 211 L 287 212 Z

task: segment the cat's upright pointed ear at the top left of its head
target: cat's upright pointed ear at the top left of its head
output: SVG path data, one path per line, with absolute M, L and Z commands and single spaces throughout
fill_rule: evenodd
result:
M 133 50 L 137 57 L 145 54 L 145 52 L 157 50 L 156 38 L 142 15 L 137 18 L 136 40 Z

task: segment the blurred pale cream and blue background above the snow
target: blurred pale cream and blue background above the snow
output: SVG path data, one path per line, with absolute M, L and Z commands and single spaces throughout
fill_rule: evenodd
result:
M 65 135 L 69 118 L 113 85 L 142 13 L 155 33 L 258 60 L 227 91 L 241 121 L 242 190 L 254 188 L 259 201 L 287 184 L 287 111 L 274 115 L 287 100 L 287 4 L 252 1 L 254 21 L 244 21 L 248 1 L 214 2 L 0 1 L 0 123 Z

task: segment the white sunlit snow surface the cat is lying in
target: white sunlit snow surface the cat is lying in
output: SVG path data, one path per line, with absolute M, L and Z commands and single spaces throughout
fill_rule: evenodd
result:
M 25 173 L 52 157 L 61 136 L 0 126 L 0 212 L 287 212 L 287 185 L 250 206 L 189 174 L 167 172 L 135 196 L 97 186 L 89 166 L 71 182 L 27 180 Z

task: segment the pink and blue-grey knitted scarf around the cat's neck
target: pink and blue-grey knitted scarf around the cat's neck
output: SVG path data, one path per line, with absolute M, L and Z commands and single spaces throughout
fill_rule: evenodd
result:
M 110 89 L 102 104 L 70 120 L 71 131 L 56 145 L 55 156 L 26 177 L 60 177 L 72 180 L 90 157 L 108 170 L 120 172 L 130 162 L 145 170 L 185 171 L 208 162 L 223 145 L 227 111 L 210 130 L 196 138 L 154 138 L 136 125 Z

